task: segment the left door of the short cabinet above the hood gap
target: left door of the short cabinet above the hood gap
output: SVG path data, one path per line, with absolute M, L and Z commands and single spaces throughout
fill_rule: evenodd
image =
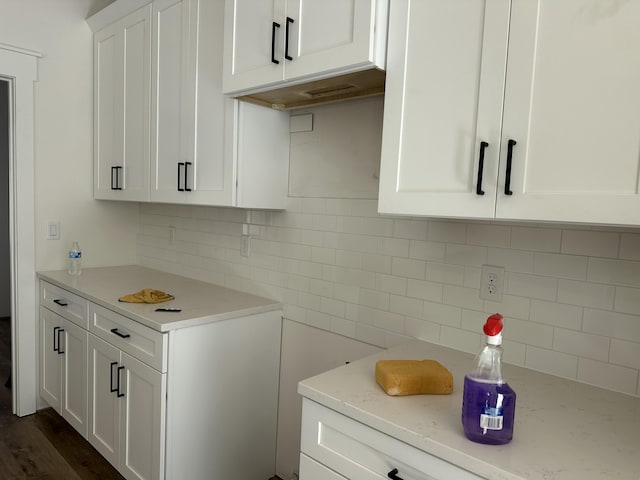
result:
M 286 0 L 225 1 L 224 93 L 284 79 L 285 8 Z

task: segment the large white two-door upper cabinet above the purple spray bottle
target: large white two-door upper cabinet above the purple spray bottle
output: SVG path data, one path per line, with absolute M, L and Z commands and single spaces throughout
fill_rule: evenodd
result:
M 392 2 L 380 212 L 639 224 L 640 59 L 620 48 L 638 19 L 635 2 Z

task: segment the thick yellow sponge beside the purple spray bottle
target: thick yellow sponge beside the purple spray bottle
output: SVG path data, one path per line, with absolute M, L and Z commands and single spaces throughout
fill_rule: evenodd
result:
M 453 391 L 453 375 L 435 360 L 378 360 L 376 382 L 394 396 Z

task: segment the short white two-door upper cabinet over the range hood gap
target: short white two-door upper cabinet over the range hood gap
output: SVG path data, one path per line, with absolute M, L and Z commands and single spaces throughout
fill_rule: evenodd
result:
M 226 0 L 224 92 L 385 67 L 388 0 Z

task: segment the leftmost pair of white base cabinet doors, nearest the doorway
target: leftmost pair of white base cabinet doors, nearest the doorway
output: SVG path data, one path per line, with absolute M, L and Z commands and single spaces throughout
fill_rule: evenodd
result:
M 87 331 L 40 307 L 40 394 L 87 437 Z

